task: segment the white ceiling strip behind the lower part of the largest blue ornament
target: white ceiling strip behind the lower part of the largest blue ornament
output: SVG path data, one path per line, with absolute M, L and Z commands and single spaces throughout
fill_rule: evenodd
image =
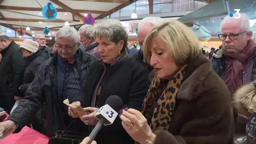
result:
M 17 10 L 11 10 L 13 12 L 10 11 L 5 11 L 5 10 L 0 10 L 0 12 L 3 14 L 3 16 L 5 16 L 5 18 L 14 18 L 14 19 L 45 19 L 43 17 L 42 11 L 17 11 Z M 29 15 L 26 14 L 21 14 L 21 13 L 27 13 Z M 56 19 L 62 19 L 62 20 L 72 20 L 72 14 L 71 13 L 67 13 L 67 15 L 65 15 L 66 12 L 58 12 Z M 31 16 L 31 15 L 35 15 L 35 16 Z M 42 17 L 39 17 L 42 16 Z

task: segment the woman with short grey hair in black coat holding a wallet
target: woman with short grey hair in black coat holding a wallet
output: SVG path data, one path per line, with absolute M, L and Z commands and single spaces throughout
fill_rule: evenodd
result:
M 119 96 L 124 108 L 141 110 L 144 97 L 150 85 L 148 72 L 135 59 L 129 58 L 126 51 L 128 33 L 115 19 L 106 19 L 94 25 L 93 36 L 98 43 L 101 59 L 89 68 L 83 92 L 72 101 L 81 105 L 90 115 L 80 116 L 85 124 L 96 125 L 94 117 L 97 108 L 103 106 L 111 95 Z M 79 117 L 69 108 L 72 117 Z M 133 144 L 117 117 L 112 125 L 103 126 L 96 139 L 98 144 Z

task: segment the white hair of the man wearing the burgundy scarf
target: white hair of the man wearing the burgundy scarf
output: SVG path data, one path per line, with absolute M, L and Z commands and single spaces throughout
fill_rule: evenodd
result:
M 241 30 L 243 32 L 252 32 L 251 27 L 250 27 L 250 23 L 249 23 L 249 17 L 247 14 L 245 13 L 240 13 L 241 16 L 239 18 L 239 20 L 241 21 Z M 235 14 L 234 14 L 235 15 Z M 235 17 L 232 16 L 225 16 L 225 18 L 223 19 L 223 21 L 221 22 L 221 27 L 223 26 L 224 23 L 226 23 L 227 21 L 234 21 Z

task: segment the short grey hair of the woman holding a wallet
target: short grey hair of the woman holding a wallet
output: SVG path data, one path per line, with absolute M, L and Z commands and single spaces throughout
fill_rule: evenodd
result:
M 94 24 L 92 35 L 94 38 L 111 40 L 115 44 L 123 40 L 125 42 L 123 48 L 127 47 L 128 32 L 123 24 L 116 19 L 104 19 Z

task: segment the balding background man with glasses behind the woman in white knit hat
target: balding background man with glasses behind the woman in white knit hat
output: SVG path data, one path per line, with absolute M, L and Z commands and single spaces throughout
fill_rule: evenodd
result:
M 45 46 L 45 36 L 42 34 L 37 34 L 35 36 L 35 41 L 39 44 L 39 51 L 43 53 L 45 59 L 51 58 L 51 49 Z

